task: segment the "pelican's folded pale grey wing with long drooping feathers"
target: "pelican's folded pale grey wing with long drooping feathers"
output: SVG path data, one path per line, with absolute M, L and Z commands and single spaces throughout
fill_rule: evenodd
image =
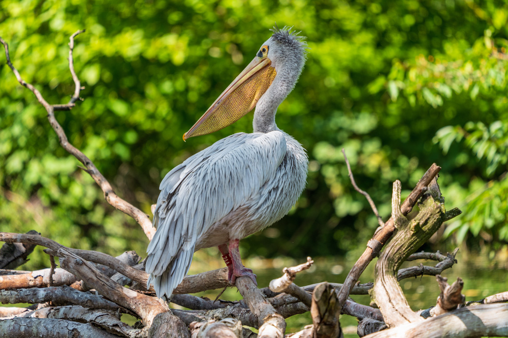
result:
M 189 157 L 161 182 L 148 245 L 146 272 L 157 295 L 170 297 L 185 277 L 198 239 L 218 220 L 246 204 L 286 154 L 280 131 L 237 133 Z

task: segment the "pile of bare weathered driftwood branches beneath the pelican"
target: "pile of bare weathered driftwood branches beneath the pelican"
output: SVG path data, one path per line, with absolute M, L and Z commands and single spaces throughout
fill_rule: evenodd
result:
M 151 239 L 155 232 L 148 215 L 119 198 L 110 183 L 83 153 L 69 143 L 55 119 L 57 110 L 69 110 L 79 100 L 80 82 L 74 71 L 74 38 L 70 38 L 69 68 L 75 83 L 75 93 L 68 104 L 49 104 L 32 85 L 24 82 L 9 58 L 7 64 L 18 82 L 35 94 L 46 108 L 48 119 L 58 135 L 60 144 L 74 155 L 104 192 L 113 207 L 132 216 Z M 345 154 L 344 154 L 345 157 Z M 455 263 L 453 253 L 415 253 L 441 226 L 460 213 L 458 209 L 444 211 L 443 199 L 437 185 L 440 167 L 432 165 L 420 179 L 407 199 L 400 203 L 400 182 L 393 184 L 392 217 L 384 223 L 365 192 L 350 178 L 357 191 L 366 195 L 379 221 L 379 228 L 343 284 L 319 283 L 297 286 L 296 274 L 308 269 L 313 261 L 285 268 L 281 278 L 259 289 L 252 280 L 236 280 L 243 299 L 236 302 L 211 301 L 192 295 L 204 290 L 229 286 L 227 268 L 187 276 L 176 288 L 171 303 L 190 310 L 170 309 L 146 289 L 147 274 L 142 259 L 133 251 L 117 257 L 68 248 L 40 236 L 0 233 L 6 242 L 0 249 L 0 302 L 2 304 L 33 304 L 27 308 L 0 307 L 0 337 L 284 337 L 284 318 L 310 311 L 312 323 L 292 337 L 342 336 L 339 315 L 357 317 L 359 336 L 508 336 L 508 292 L 499 293 L 479 302 L 465 303 L 461 290 L 464 282 L 458 278 L 452 285 L 439 274 Z M 418 203 L 418 213 L 406 215 Z M 14 270 L 21 266 L 35 245 L 46 247 L 50 268 L 39 271 Z M 383 250 L 382 250 L 383 249 Z M 54 257 L 59 258 L 60 268 Z M 373 283 L 357 284 L 369 262 L 376 256 Z M 407 260 L 430 259 L 434 267 L 415 266 L 400 269 Z M 414 312 L 409 308 L 398 281 L 404 278 L 436 276 L 441 290 L 436 306 Z M 127 287 L 126 287 L 127 286 Z M 349 296 L 370 294 L 372 306 L 355 303 Z M 436 294 L 437 295 L 437 294 Z M 491 304 L 496 303 L 496 304 Z M 504 304 L 502 304 L 504 303 Z M 122 314 L 139 319 L 134 326 L 120 320 Z M 251 329 L 259 329 L 256 334 Z

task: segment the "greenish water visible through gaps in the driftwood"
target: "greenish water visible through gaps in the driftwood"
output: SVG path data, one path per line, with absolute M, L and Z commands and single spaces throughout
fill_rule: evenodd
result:
M 451 269 L 444 271 L 441 275 L 447 277 L 450 284 L 460 277 L 464 280 L 464 289 L 462 293 L 466 296 L 466 301 L 478 301 L 488 295 L 507 291 L 508 290 L 508 251 L 498 252 L 497 254 L 491 252 L 487 253 L 464 253 L 459 250 L 456 259 L 458 260 Z M 352 255 L 353 256 L 353 255 Z M 356 257 L 359 255 L 356 255 Z M 355 258 L 356 258 L 355 257 Z M 205 265 L 215 264 L 215 259 L 210 257 L 203 257 L 198 262 L 194 269 L 199 269 L 202 264 Z M 352 257 L 353 258 L 353 257 Z M 208 261 L 208 262 L 207 262 Z M 308 285 L 319 283 L 323 281 L 342 283 L 347 275 L 347 272 L 354 265 L 356 259 L 344 259 L 339 257 L 326 257 L 315 258 L 314 266 L 306 271 L 300 273 L 295 283 L 297 285 Z M 276 258 L 276 259 L 249 259 L 245 265 L 252 268 L 258 275 L 259 287 L 265 287 L 270 280 L 281 276 L 283 267 L 294 266 L 301 264 L 302 261 L 295 261 L 290 258 Z M 403 268 L 410 266 L 418 266 L 422 262 L 424 265 L 434 266 L 437 264 L 435 261 L 418 260 L 406 262 Z M 362 283 L 373 280 L 373 268 L 375 261 L 371 262 L 367 270 L 360 278 Z M 219 268 L 219 266 L 217 266 Z M 192 270 L 194 270 L 192 269 Z M 215 269 L 215 267 L 213 267 Z M 418 278 L 404 279 L 400 281 L 400 285 L 407 298 L 411 309 L 420 310 L 427 309 L 436 303 L 437 296 L 439 295 L 439 287 L 436 279 L 433 276 L 423 276 Z M 211 290 L 199 293 L 200 296 L 207 296 L 214 299 L 219 290 Z M 241 299 L 241 295 L 236 288 L 228 288 L 223 295 L 222 299 L 236 300 Z M 361 304 L 369 305 L 370 297 L 368 295 L 353 295 L 352 298 Z M 309 313 L 296 315 L 286 319 L 288 323 L 287 333 L 296 332 L 301 330 L 305 325 L 312 324 L 312 319 Z M 340 322 L 345 329 L 346 337 L 358 337 L 356 334 L 357 319 L 350 316 L 341 316 Z

